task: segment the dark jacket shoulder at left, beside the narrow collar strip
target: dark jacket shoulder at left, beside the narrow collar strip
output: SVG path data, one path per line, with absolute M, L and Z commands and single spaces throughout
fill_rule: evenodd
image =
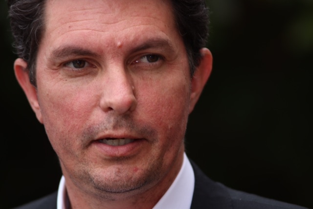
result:
M 27 203 L 15 209 L 56 209 L 57 192 L 49 194 L 43 198 Z

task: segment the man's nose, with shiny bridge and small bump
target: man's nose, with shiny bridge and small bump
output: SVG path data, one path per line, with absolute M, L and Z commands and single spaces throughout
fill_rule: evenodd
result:
M 108 70 L 102 85 L 100 107 L 104 112 L 132 112 L 137 106 L 131 75 L 122 68 Z

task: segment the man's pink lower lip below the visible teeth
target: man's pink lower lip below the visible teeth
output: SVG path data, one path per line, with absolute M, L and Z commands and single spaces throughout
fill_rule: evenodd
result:
M 112 146 L 100 141 L 94 141 L 92 145 L 100 151 L 103 157 L 130 157 L 142 150 L 145 141 L 145 139 L 135 139 L 133 142 L 121 146 Z

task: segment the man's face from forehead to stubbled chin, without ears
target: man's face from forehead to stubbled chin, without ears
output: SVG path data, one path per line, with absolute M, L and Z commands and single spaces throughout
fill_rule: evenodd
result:
M 36 73 L 68 185 L 127 193 L 175 178 L 195 102 L 169 2 L 48 0 Z

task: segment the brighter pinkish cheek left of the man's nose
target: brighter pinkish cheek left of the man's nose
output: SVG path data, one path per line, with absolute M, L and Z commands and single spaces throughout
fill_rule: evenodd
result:
M 85 91 L 71 90 L 63 86 L 61 89 L 38 88 L 41 112 L 46 133 L 55 147 L 59 141 L 73 143 L 69 139 L 77 138 L 89 119 L 90 111 L 95 106 L 94 97 Z M 42 99 L 41 99 L 42 98 Z

